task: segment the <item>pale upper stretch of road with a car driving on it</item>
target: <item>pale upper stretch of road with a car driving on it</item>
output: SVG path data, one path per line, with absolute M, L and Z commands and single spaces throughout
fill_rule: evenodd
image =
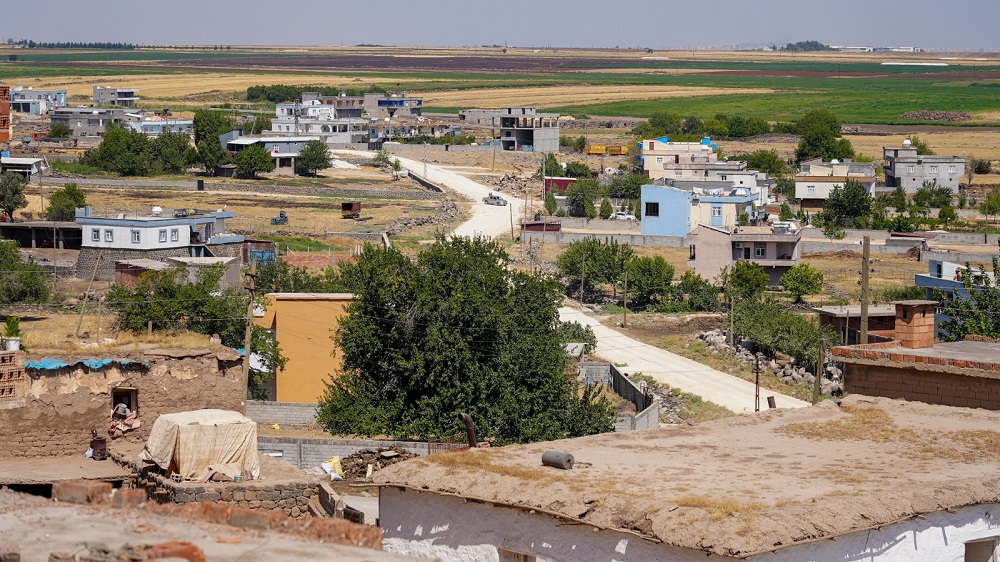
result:
M 396 158 L 399 158 L 398 156 Z M 424 164 L 409 158 L 399 158 L 403 167 L 411 172 L 423 176 Z M 509 194 L 499 193 L 494 188 L 475 182 L 458 172 L 449 170 L 444 166 L 434 164 L 427 165 L 427 179 L 442 187 L 450 189 L 473 202 L 472 216 L 469 220 L 458 225 L 452 232 L 457 236 L 475 236 L 477 234 L 489 238 L 497 236 L 510 236 L 511 223 L 519 229 L 521 214 L 524 212 L 524 202 L 509 197 Z M 490 193 L 497 193 L 507 200 L 507 205 L 498 207 L 483 203 L 483 197 Z M 515 236 L 517 230 L 515 230 Z

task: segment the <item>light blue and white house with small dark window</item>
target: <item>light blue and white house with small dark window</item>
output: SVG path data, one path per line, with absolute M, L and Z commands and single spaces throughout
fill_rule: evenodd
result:
M 698 181 L 644 185 L 640 206 L 642 233 L 647 236 L 687 236 L 698 224 L 732 228 L 740 214 L 753 213 L 760 198 L 732 182 Z

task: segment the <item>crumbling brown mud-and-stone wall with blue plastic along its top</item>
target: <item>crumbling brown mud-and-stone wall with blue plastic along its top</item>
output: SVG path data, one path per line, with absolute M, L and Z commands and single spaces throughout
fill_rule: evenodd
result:
M 141 425 L 118 439 L 109 438 L 112 451 L 122 441 L 145 443 L 160 414 L 240 409 L 243 359 L 231 349 L 153 350 L 116 357 L 100 368 L 74 365 L 80 358 L 64 357 L 70 366 L 36 369 L 30 367 L 33 359 L 28 357 L 24 397 L 0 404 L 5 456 L 82 455 L 92 429 L 108 436 L 111 392 L 116 388 L 135 389 Z

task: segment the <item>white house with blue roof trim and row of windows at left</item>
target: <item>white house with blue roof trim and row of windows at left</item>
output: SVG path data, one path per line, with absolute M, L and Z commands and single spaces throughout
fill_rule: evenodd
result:
M 97 279 L 115 277 L 115 262 L 184 257 L 240 257 L 243 236 L 226 231 L 232 211 L 161 209 L 101 216 L 90 207 L 76 210 L 83 230 L 78 271 L 96 271 Z M 95 269 L 96 266 L 96 269 Z

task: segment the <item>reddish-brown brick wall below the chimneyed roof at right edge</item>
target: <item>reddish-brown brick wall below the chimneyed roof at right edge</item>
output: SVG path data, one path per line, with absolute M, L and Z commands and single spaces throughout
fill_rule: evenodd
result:
M 990 377 L 845 363 L 844 391 L 927 404 L 1000 410 L 1000 379 Z

